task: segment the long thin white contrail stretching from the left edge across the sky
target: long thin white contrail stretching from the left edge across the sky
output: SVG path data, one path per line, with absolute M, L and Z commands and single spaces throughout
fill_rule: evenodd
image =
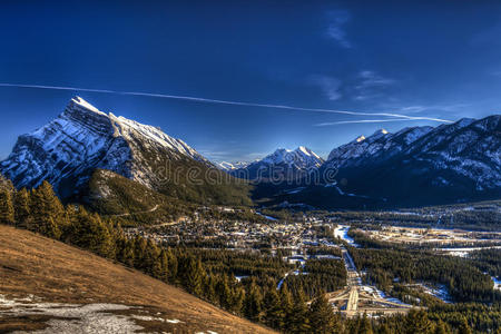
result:
M 439 122 L 452 122 L 452 120 L 441 119 L 441 118 L 416 117 L 416 116 L 407 116 L 407 115 L 391 114 L 391 112 L 363 112 L 363 111 L 348 111 L 348 110 L 336 110 L 336 109 L 301 108 L 301 107 L 284 106 L 284 105 L 267 105 L 267 104 L 255 104 L 255 102 L 244 102 L 244 101 L 228 101 L 228 100 L 198 98 L 198 97 L 191 97 L 191 96 L 140 92 L 140 91 L 117 91 L 117 90 L 109 90 L 109 89 L 91 89 L 91 88 L 79 88 L 79 87 L 43 86 L 43 85 L 21 85 L 21 84 L 6 84 L 6 82 L 0 82 L 0 87 L 53 89 L 53 90 L 76 90 L 76 91 L 116 94 L 116 95 L 128 95 L 128 96 L 146 96 L 146 97 L 156 97 L 156 98 L 165 98 L 165 99 L 196 101 L 196 102 L 204 102 L 204 104 L 273 108 L 273 109 L 295 110 L 295 111 L 327 112 L 327 114 L 341 114 L 341 115 L 352 115 L 352 116 L 384 116 L 384 117 L 404 118 L 404 120 L 433 120 L 433 121 L 439 121 Z

